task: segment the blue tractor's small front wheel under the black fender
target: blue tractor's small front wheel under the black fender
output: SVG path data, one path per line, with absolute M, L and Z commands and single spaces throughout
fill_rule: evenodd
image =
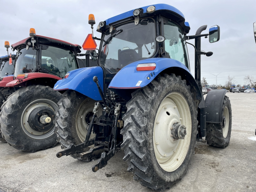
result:
M 205 140 L 207 140 L 208 145 L 218 148 L 225 148 L 230 140 L 232 126 L 232 110 L 230 100 L 227 96 L 225 96 L 223 100 L 221 117 L 222 122 L 220 124 L 206 124 Z M 224 117 L 225 123 L 223 120 Z

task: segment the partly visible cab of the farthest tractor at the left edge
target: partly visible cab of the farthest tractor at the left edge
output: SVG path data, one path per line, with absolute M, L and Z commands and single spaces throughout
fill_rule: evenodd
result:
M 9 63 L 9 57 L 8 55 L 0 57 L 0 78 L 14 74 L 14 60 L 16 55 L 11 55 L 11 63 Z

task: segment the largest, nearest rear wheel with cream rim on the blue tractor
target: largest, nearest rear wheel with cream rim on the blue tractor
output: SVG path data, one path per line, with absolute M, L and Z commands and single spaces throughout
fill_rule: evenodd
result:
M 132 93 L 126 104 L 124 161 L 133 178 L 148 188 L 164 191 L 188 170 L 197 134 L 196 107 L 190 87 L 180 76 L 158 75 Z M 187 127 L 185 139 L 174 140 L 173 123 Z M 158 147 L 159 146 L 159 147 Z

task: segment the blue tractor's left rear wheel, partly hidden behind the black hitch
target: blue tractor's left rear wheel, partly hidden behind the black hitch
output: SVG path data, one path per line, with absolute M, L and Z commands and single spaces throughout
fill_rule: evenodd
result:
M 55 111 L 56 118 L 54 120 L 57 141 L 60 142 L 62 149 L 68 148 L 72 144 L 78 145 L 84 142 L 87 134 L 87 123 L 90 123 L 92 118 L 95 102 L 95 100 L 74 90 L 68 90 L 63 93 L 63 98 L 58 102 L 59 107 Z M 101 107 L 97 116 L 101 115 L 100 109 Z M 95 135 L 92 132 L 91 139 L 93 137 Z M 77 154 L 88 151 L 90 147 L 94 147 L 94 145 L 77 151 Z M 103 150 L 97 150 L 91 156 L 83 159 L 76 155 L 71 156 L 82 161 L 90 161 L 100 157 L 102 152 Z

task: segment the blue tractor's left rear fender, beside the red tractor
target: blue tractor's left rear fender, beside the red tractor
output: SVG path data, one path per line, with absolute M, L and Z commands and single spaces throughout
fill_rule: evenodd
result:
M 75 90 L 94 100 L 101 100 L 96 83 L 93 76 L 97 76 L 103 88 L 103 69 L 101 67 L 80 68 L 69 72 L 68 78 L 57 81 L 54 90 Z

